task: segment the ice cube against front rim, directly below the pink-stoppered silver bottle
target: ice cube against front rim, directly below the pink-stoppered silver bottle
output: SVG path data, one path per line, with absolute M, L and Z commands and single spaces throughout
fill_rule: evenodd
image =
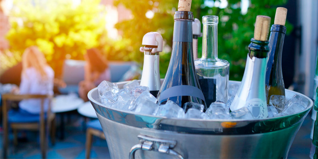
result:
M 158 112 L 158 108 L 159 108 L 158 104 L 149 100 L 142 100 L 135 107 L 135 112 L 141 113 L 141 114 L 156 115 Z

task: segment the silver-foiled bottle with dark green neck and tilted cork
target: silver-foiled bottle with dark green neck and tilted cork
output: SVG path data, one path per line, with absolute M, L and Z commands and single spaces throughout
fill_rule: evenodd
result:
M 248 54 L 242 82 L 230 106 L 231 111 L 247 107 L 254 118 L 268 116 L 265 92 L 268 31 L 271 18 L 257 16 L 254 38 L 248 45 Z

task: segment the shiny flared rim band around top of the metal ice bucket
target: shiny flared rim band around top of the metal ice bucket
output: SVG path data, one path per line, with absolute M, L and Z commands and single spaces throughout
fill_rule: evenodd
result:
M 229 84 L 238 84 L 238 81 L 230 81 Z M 123 82 L 121 82 L 123 84 Z M 94 93 L 94 94 L 93 94 Z M 309 110 L 313 106 L 313 101 L 308 98 L 307 96 L 294 92 L 291 90 L 286 90 L 286 98 L 289 95 L 293 96 L 294 94 L 299 94 L 302 97 L 306 98 L 308 102 L 308 106 L 303 111 L 290 114 L 285 116 L 276 116 L 271 118 L 264 118 L 264 119 L 253 119 L 253 120 L 246 120 L 246 119 L 186 119 L 186 118 L 167 118 L 163 116 L 155 116 L 149 114 L 141 114 L 135 113 L 131 111 L 120 110 L 117 108 L 106 107 L 105 105 L 101 104 L 98 100 L 98 90 L 97 88 L 92 89 L 88 93 L 88 99 L 91 101 L 96 113 L 100 114 L 101 116 L 116 121 L 122 124 L 126 124 L 129 126 L 139 127 L 139 128 L 154 128 L 160 130 L 168 130 L 168 131 L 177 131 L 177 132 L 184 132 L 184 133 L 192 133 L 192 134 L 213 134 L 213 133 L 220 133 L 225 135 L 238 135 L 241 133 L 264 133 L 270 131 L 276 131 L 283 128 L 290 127 L 299 121 L 301 118 L 306 117 Z M 94 98 L 97 98 L 95 100 Z M 287 99 L 289 99 L 287 98 Z M 280 122 L 284 122 L 284 124 L 280 124 Z M 227 123 L 235 123 L 233 127 L 226 128 L 222 126 L 222 124 Z M 267 128 L 260 128 L 262 125 L 272 124 L 274 125 L 273 130 Z M 246 132 L 245 132 L 246 129 Z M 255 130 L 259 129 L 259 130 Z M 239 132 L 235 131 L 239 130 Z M 233 132 L 232 132 L 233 131 Z

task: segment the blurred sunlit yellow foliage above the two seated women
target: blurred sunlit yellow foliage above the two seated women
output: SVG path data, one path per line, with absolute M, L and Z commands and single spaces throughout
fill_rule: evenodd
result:
M 60 75 L 67 54 L 83 59 L 86 49 L 99 46 L 105 24 L 100 0 L 82 0 L 78 5 L 64 0 L 15 0 L 6 38 L 11 50 L 20 54 L 37 45 Z

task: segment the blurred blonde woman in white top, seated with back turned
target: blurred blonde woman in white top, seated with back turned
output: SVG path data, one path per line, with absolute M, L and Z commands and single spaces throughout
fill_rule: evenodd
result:
M 30 46 L 22 55 L 22 73 L 20 83 L 20 94 L 50 94 L 53 95 L 54 71 L 46 63 L 46 59 L 38 47 Z M 49 105 L 45 100 L 44 110 Z M 41 111 L 39 99 L 22 100 L 19 103 L 20 111 L 39 114 Z

